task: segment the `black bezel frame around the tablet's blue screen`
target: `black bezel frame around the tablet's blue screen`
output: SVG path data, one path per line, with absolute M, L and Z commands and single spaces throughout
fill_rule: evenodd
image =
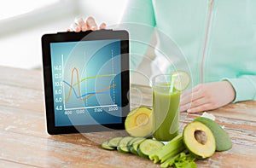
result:
M 90 34 L 90 36 L 88 36 Z M 86 37 L 86 38 L 84 38 Z M 121 42 L 121 87 L 122 87 L 122 123 L 108 125 L 72 125 L 55 126 L 55 108 L 53 99 L 51 56 L 49 43 L 78 42 L 87 40 L 119 39 Z M 58 32 L 45 34 L 42 37 L 43 72 L 44 72 L 44 101 L 46 111 L 47 131 L 50 135 L 84 133 L 105 130 L 124 130 L 125 117 L 130 112 L 129 90 L 129 34 L 124 30 L 98 30 L 86 32 Z

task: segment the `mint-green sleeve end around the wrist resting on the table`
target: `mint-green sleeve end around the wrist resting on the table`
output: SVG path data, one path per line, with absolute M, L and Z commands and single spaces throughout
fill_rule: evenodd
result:
M 242 75 L 240 78 L 224 78 L 232 84 L 236 91 L 233 102 L 256 100 L 256 76 Z

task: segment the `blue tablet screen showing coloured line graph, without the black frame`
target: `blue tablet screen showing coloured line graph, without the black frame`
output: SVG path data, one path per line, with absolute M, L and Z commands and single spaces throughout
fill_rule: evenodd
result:
M 119 39 L 50 43 L 55 126 L 122 122 Z

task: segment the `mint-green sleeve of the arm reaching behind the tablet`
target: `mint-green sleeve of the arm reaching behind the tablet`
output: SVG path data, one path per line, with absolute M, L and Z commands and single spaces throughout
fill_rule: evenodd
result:
M 151 0 L 130 0 L 120 22 L 130 36 L 130 68 L 136 70 L 154 32 L 154 9 Z

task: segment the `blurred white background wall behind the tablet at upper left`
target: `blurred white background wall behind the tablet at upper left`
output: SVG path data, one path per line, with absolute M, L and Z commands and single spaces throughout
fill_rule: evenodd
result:
M 57 3 L 44 7 L 47 1 Z M 98 23 L 115 25 L 121 19 L 127 0 L 8 2 L 1 3 L 0 7 L 0 65 L 39 68 L 42 67 L 41 37 L 44 33 L 67 31 L 77 16 L 91 15 Z

